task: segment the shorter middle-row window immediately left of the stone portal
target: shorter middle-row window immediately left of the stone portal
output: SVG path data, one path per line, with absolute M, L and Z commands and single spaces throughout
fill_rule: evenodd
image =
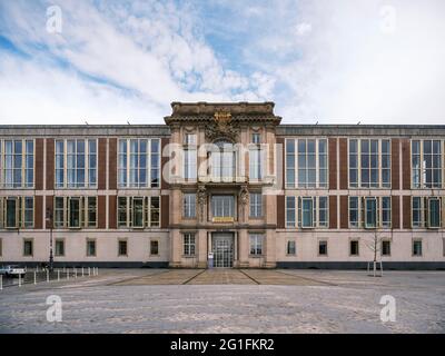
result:
M 118 227 L 159 227 L 159 197 L 118 197 Z

